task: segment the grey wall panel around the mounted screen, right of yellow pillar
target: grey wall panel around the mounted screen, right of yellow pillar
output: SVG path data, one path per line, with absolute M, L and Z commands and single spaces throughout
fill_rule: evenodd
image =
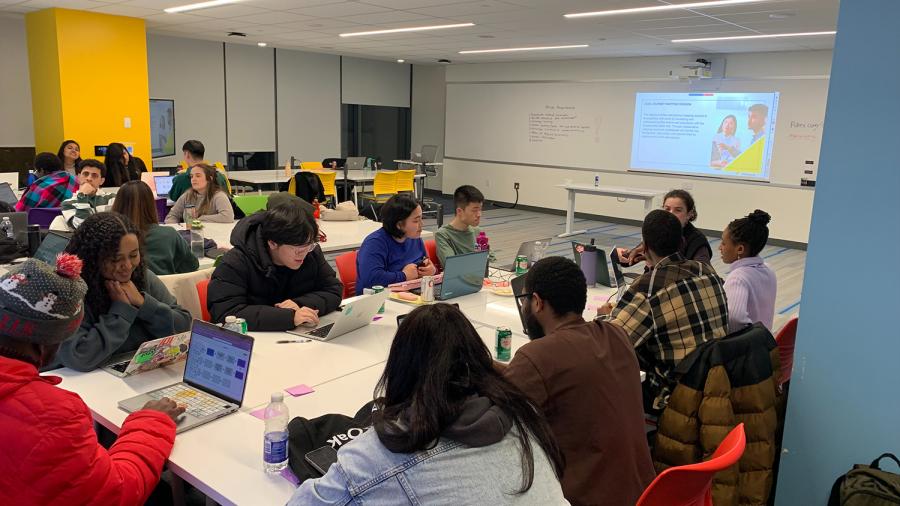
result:
M 153 164 L 176 165 L 191 139 L 203 143 L 207 160 L 227 163 L 222 43 L 148 35 L 147 66 L 150 97 L 175 100 L 175 155 Z

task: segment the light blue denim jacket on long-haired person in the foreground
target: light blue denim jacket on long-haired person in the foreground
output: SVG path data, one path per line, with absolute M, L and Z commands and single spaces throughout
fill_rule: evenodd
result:
M 288 505 L 569 504 L 534 439 L 534 483 L 515 494 L 522 481 L 515 434 L 511 430 L 500 442 L 480 448 L 441 438 L 430 450 L 393 453 L 369 430 L 341 447 L 325 476 L 303 482 Z

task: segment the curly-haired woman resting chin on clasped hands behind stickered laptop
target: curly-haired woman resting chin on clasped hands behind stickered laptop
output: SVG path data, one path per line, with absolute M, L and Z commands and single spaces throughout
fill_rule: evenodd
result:
M 66 252 L 84 261 L 88 285 L 84 321 L 59 350 L 66 367 L 90 371 L 116 353 L 191 328 L 191 314 L 146 269 L 140 231 L 125 216 L 104 212 L 84 220 Z

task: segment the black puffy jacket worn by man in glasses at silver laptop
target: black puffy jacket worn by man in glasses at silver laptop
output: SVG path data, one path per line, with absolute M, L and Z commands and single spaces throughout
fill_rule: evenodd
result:
M 275 307 L 291 299 L 323 316 L 341 303 L 343 286 L 316 246 L 297 270 L 272 263 L 260 225 L 265 213 L 239 221 L 231 232 L 232 250 L 225 254 L 209 282 L 207 307 L 213 322 L 234 315 L 247 320 L 250 330 L 294 328 L 294 311 Z

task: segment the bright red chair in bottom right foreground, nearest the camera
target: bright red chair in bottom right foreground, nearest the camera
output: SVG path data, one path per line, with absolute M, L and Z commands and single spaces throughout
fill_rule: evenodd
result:
M 740 460 L 746 444 L 744 424 L 739 424 L 706 462 L 670 467 L 660 473 L 641 494 L 637 506 L 713 506 L 713 477 Z

